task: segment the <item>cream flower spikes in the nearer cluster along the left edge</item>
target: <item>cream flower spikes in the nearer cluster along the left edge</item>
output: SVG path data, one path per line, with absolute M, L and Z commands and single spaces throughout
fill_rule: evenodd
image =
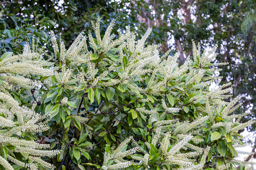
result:
M 0 168 L 15 169 L 26 167 L 38 169 L 54 165 L 41 159 L 41 156 L 54 156 L 59 150 L 46 150 L 49 144 L 35 142 L 35 135 L 47 131 L 49 114 L 38 114 L 32 108 L 21 106 L 19 98 L 22 87 L 33 89 L 37 82 L 29 75 L 53 75 L 53 71 L 43 68 L 51 63 L 42 61 L 38 53 L 12 56 L 5 53 L 0 58 Z M 12 165 L 14 164 L 14 165 Z

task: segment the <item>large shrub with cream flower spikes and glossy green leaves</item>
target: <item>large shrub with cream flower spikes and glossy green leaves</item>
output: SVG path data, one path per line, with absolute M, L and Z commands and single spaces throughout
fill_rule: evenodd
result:
M 239 154 L 253 154 L 237 149 L 244 145 L 243 136 L 237 132 L 255 120 L 239 123 L 247 113 L 233 114 L 240 106 L 240 96 L 223 101 L 230 97 L 232 87 L 229 83 L 219 85 L 222 77 L 214 76 L 214 72 L 221 71 L 217 66 L 227 64 L 211 62 L 217 56 L 217 46 L 201 54 L 200 45 L 197 48 L 193 43 L 193 57 L 179 66 L 179 53 L 169 56 L 167 51 L 159 56 L 160 45 L 146 45 L 151 29 L 138 39 L 130 27 L 118 30 L 118 36 L 111 34 L 114 21 L 104 36 L 100 35 L 100 19 L 92 26 L 95 34 L 80 33 L 68 50 L 52 32 L 54 56 L 36 45 L 26 45 L 24 54 L 16 56 L 27 56 L 26 62 L 39 65 L 29 65 L 25 73 L 38 86 L 27 87 L 32 89 L 29 92 L 23 88 L 5 90 L 8 82 L 1 86 L 1 106 L 6 108 L 1 110 L 3 167 L 9 167 L 9 163 L 26 167 L 25 153 L 32 155 L 32 164 L 56 169 L 244 169 L 249 164 L 237 159 Z M 34 61 L 37 57 L 47 58 L 54 66 L 37 70 L 51 65 Z M 6 63 L 0 63 L 1 70 Z M 34 76 L 28 75 L 30 68 Z M 51 70 L 54 75 L 48 73 Z M 24 77 L 15 75 L 10 80 L 24 85 Z M 209 90 L 213 82 L 216 86 Z M 17 101 L 17 113 L 13 113 L 12 102 L 4 103 L 2 93 L 10 101 Z M 33 106 L 37 113 L 24 110 L 19 102 L 36 103 Z M 25 128 L 28 123 L 20 118 L 21 112 L 25 117 L 37 114 L 29 116 L 37 120 Z M 35 122 L 47 115 L 50 129 L 38 133 L 47 130 L 48 120 Z M 33 150 L 43 148 L 41 144 L 27 144 L 31 148 L 25 148 L 16 142 L 35 136 L 60 154 Z M 52 157 L 41 163 L 43 159 L 33 155 Z

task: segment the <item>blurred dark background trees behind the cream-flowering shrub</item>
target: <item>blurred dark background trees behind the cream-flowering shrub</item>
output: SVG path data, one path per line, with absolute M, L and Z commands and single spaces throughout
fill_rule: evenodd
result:
M 31 43 L 33 36 L 47 43 L 50 30 L 61 33 L 68 47 L 81 31 L 88 34 L 97 16 L 102 18 L 102 32 L 113 19 L 116 28 L 130 25 L 139 36 L 152 27 L 150 43 L 161 43 L 162 52 L 181 51 L 180 63 L 192 55 L 192 39 L 202 49 L 218 44 L 220 55 L 215 62 L 230 63 L 222 67 L 221 76 L 232 82 L 233 97 L 242 95 L 243 105 L 237 112 L 250 110 L 246 122 L 256 114 L 255 4 L 254 0 L 4 0 L 0 2 L 0 55 L 22 53 L 24 43 Z M 255 130 L 255 124 L 248 128 Z

